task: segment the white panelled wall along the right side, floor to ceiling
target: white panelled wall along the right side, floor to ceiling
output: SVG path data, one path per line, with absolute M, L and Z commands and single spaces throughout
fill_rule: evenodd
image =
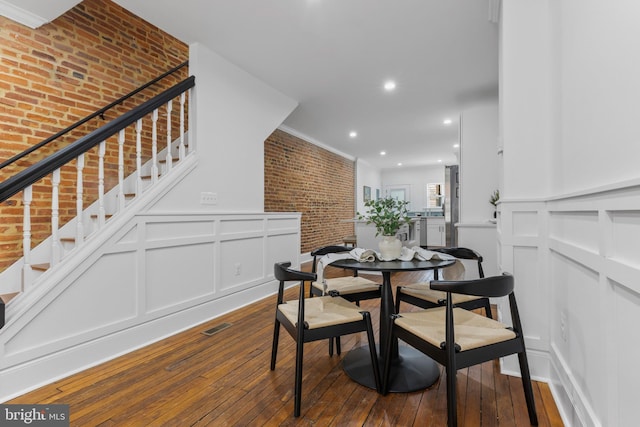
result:
M 639 13 L 502 3 L 500 264 L 516 277 L 533 374 L 567 425 L 638 419 Z

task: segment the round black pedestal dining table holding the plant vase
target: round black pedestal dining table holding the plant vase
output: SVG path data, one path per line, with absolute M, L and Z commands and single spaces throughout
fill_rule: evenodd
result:
M 433 385 L 440 376 L 440 370 L 432 359 L 420 351 L 407 345 L 398 345 L 395 339 L 389 355 L 385 354 L 384 346 L 391 333 L 390 316 L 395 312 L 393 292 L 391 289 L 391 273 L 402 271 L 434 270 L 434 279 L 438 279 L 438 269 L 453 265 L 455 260 L 411 260 L 411 261 L 373 261 L 359 262 L 354 259 L 341 259 L 331 263 L 331 266 L 358 271 L 376 271 L 382 273 L 382 288 L 380 299 L 380 333 L 378 337 L 378 352 L 380 359 L 391 357 L 389 374 L 390 392 L 411 392 L 423 390 Z M 380 366 L 383 365 L 381 361 Z M 342 361 L 347 375 L 354 381 L 369 388 L 376 388 L 372 374 L 371 356 L 368 346 L 356 347 L 347 353 Z

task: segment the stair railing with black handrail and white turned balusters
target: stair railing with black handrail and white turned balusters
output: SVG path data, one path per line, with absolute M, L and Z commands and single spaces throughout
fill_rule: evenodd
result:
M 33 200 L 33 187 L 34 184 L 51 175 L 51 256 L 50 265 L 55 265 L 62 258 L 62 244 L 61 237 L 59 235 L 59 194 L 61 190 L 60 171 L 65 165 L 70 165 L 75 160 L 76 169 L 76 235 L 75 245 L 81 246 L 86 236 L 86 224 L 83 219 L 83 210 L 85 208 L 83 197 L 83 171 L 85 168 L 85 154 L 92 148 L 98 146 L 98 185 L 97 185 L 97 228 L 100 229 L 105 225 L 107 214 L 105 207 L 105 153 L 107 139 L 117 134 L 118 144 L 118 165 L 117 165 L 117 205 L 116 213 L 124 209 L 125 206 L 125 194 L 124 194 L 124 179 L 125 179 L 125 156 L 124 146 L 126 141 L 125 129 L 132 126 L 135 132 L 135 196 L 139 196 L 143 190 L 143 162 L 142 162 L 142 134 L 143 134 L 143 120 L 151 120 L 151 145 L 152 145 L 152 166 L 151 166 L 151 181 L 155 183 L 159 178 L 158 169 L 158 120 L 159 110 L 162 106 L 165 106 L 166 112 L 166 129 L 167 129 L 167 146 L 166 154 L 162 161 L 166 162 L 165 170 L 170 170 L 174 161 L 173 152 L 177 152 L 177 159 L 182 160 L 189 152 L 194 150 L 194 147 L 190 145 L 187 149 L 185 141 L 185 120 L 187 109 L 185 108 L 186 96 L 191 99 L 191 88 L 195 86 L 195 77 L 191 76 L 173 87 L 165 90 L 154 98 L 144 102 L 140 106 L 130 110 L 129 112 L 114 119 L 110 123 L 101 126 L 95 131 L 79 138 L 72 144 L 60 149 L 56 153 L 48 156 L 47 158 L 37 162 L 36 164 L 22 170 L 21 172 L 13 175 L 9 179 L 0 183 L 0 203 L 6 201 L 10 197 L 22 192 L 23 202 L 23 265 L 22 265 L 22 280 L 20 291 L 29 289 L 33 284 L 33 268 L 31 260 L 31 204 Z M 140 89 L 141 90 L 141 89 Z M 137 90 L 139 91 L 139 90 Z M 171 121 L 174 100 L 178 99 L 179 102 L 179 137 L 176 140 L 172 140 L 171 135 Z M 117 103 L 117 101 L 116 101 Z M 106 108 L 106 107 L 105 107 Z M 104 110 L 104 109 L 102 109 Z M 94 113 L 93 117 L 99 116 L 100 111 Z M 76 126 L 77 127 L 77 126 Z M 10 159 L 15 161 L 16 159 Z M 10 163 L 10 162 L 5 162 Z M 5 164 L 3 163 L 3 166 Z

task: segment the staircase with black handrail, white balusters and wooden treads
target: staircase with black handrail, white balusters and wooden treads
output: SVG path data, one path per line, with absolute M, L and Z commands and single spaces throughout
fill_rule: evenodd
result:
M 0 183 L 0 202 L 22 193 L 24 206 L 23 256 L 0 273 L 0 328 L 10 323 L 13 315 L 26 309 L 26 305 L 34 302 L 25 296 L 33 293 L 48 275 L 68 259 L 77 256 L 92 239 L 108 232 L 110 223 L 119 215 L 136 204 L 140 207 L 137 201 L 154 187 L 171 180 L 172 171 L 180 169 L 177 167 L 179 163 L 193 154 L 186 129 L 186 107 L 194 85 L 194 77 L 183 80 Z M 158 135 L 159 126 L 166 134 Z M 176 128 L 177 138 L 174 137 Z M 128 139 L 127 135 L 134 137 Z M 148 160 L 143 159 L 145 145 L 151 146 Z M 129 152 L 135 152 L 135 156 L 125 156 L 126 148 Z M 117 151 L 116 167 L 106 167 L 107 149 Z M 85 169 L 87 156 L 94 156 L 93 159 L 97 157 L 97 162 L 91 165 L 97 171 L 90 171 L 97 176 L 97 194 L 91 195 L 95 202 L 84 206 L 83 200 L 88 196 L 83 189 L 85 177 L 89 175 L 89 167 Z M 97 163 L 97 167 L 94 163 Z M 61 191 L 64 185 L 60 178 L 61 168 L 67 166 L 68 170 L 68 165 L 76 169 L 74 203 L 77 214 L 59 226 L 59 206 L 63 201 L 59 194 L 64 194 Z M 105 171 L 109 169 L 117 170 L 117 184 L 105 192 L 105 180 L 108 177 Z M 132 170 L 133 173 L 125 177 L 125 170 Z M 43 191 L 42 188 L 51 194 L 51 235 L 31 248 L 31 204 L 34 191 Z

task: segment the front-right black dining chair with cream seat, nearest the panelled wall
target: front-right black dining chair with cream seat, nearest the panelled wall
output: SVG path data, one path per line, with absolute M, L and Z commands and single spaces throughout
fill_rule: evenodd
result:
M 446 293 L 446 306 L 390 317 L 385 344 L 389 354 L 393 338 L 399 338 L 445 367 L 447 376 L 447 418 L 450 427 L 457 425 L 456 373 L 458 369 L 478 365 L 510 354 L 517 354 L 524 387 L 529 421 L 538 425 L 524 334 L 513 292 L 513 276 L 505 274 L 475 280 L 433 281 L 433 289 Z M 509 297 L 512 326 L 454 307 L 453 294 L 482 297 Z M 390 358 L 385 358 L 382 392 L 389 384 Z

